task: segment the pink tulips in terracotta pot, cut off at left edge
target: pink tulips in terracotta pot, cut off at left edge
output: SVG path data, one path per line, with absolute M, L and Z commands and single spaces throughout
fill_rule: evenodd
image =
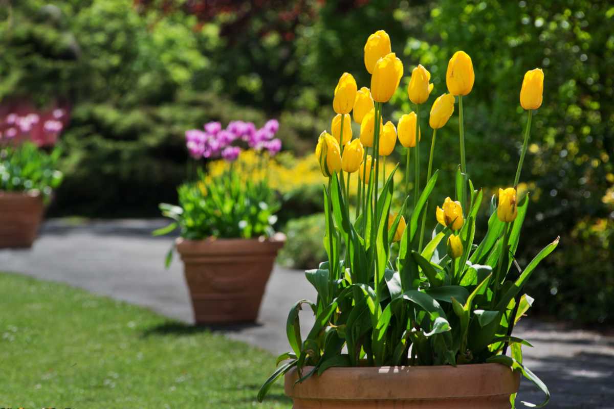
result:
M 0 121 L 0 248 L 32 247 L 44 207 L 62 180 L 59 148 L 64 110 L 11 112 Z

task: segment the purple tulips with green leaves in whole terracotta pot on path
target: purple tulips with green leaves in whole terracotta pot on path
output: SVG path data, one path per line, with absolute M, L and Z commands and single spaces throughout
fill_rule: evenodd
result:
M 179 186 L 179 206 L 161 204 L 173 223 L 154 232 L 166 234 L 176 227 L 181 237 L 174 248 L 184 261 L 185 278 L 197 324 L 255 321 L 274 259 L 286 238 L 273 225 L 279 204 L 268 186 L 266 164 L 281 150 L 275 139 L 279 123 L 219 122 L 204 131 L 185 132 L 190 155 L 198 160 L 222 157 L 223 170 Z M 237 161 L 242 150 L 257 153 L 255 163 Z M 168 266 L 173 248 L 166 257 Z

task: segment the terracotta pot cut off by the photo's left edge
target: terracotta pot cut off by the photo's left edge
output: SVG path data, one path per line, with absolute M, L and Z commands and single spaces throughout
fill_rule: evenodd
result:
M 32 247 L 43 210 L 39 193 L 0 191 L 0 248 Z

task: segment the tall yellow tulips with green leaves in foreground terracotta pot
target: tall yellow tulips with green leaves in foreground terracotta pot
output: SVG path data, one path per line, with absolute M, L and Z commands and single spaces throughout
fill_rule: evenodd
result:
M 285 375 L 286 394 L 295 409 L 509 408 L 515 405 L 519 377 L 524 375 L 546 395 L 537 406 L 545 405 L 548 389 L 523 365 L 522 348 L 530 343 L 513 335 L 532 302 L 523 294 L 523 286 L 558 244 L 554 240 L 527 266 L 519 266 L 515 259 L 529 207 L 528 194 L 517 197 L 516 186 L 530 118 L 542 103 L 542 70 L 527 72 L 521 90 L 520 102 L 529 121 L 515 179 L 504 182 L 509 185 L 492 197 L 488 230 L 478 234 L 476 218 L 483 212 L 484 191 L 467 178 L 464 150 L 463 97 L 474 82 L 470 57 L 457 52 L 451 58 L 448 93 L 437 97 L 430 109 L 426 175 L 418 150 L 419 110 L 433 90 L 430 73 L 421 65 L 411 72 L 407 94 L 416 112 L 403 115 L 395 129 L 390 122 L 382 126 L 383 108 L 397 90 L 403 64 L 391 52 L 386 32 L 368 37 L 364 61 L 371 74 L 370 90 L 357 90 L 350 74 L 341 76 L 333 99 L 333 109 L 343 118 L 340 130 L 333 126 L 332 135 L 322 132 L 316 147 L 316 158 L 328 177 L 324 186 L 328 259 L 306 272 L 317 299 L 299 300 L 290 310 L 291 350 L 279 356 L 279 368 L 265 381 L 258 399 Z M 450 197 L 437 198 L 441 205 L 435 214 L 428 214 L 427 201 L 432 200 L 438 179 L 438 171 L 432 172 L 435 137 L 453 115 L 456 101 L 461 166 Z M 357 140 L 344 138 L 344 121 L 352 109 L 360 123 Z M 397 138 L 408 155 L 401 189 L 394 184 L 397 169 L 387 176 L 379 172 L 381 156 L 392 150 Z M 363 182 L 354 215 L 344 185 L 352 172 L 358 172 Z M 426 185 L 421 188 L 424 176 Z M 395 189 L 405 197 L 398 208 L 394 208 Z M 427 223 L 433 230 L 425 237 Z M 341 248 L 346 249 L 343 254 Z M 300 331 L 298 312 L 303 308 L 315 316 L 308 334 Z

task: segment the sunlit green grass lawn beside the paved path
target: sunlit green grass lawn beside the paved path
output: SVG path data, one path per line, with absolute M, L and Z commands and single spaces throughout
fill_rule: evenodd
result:
M 65 285 L 0 273 L 0 408 L 290 408 L 274 357 Z M 280 334 L 282 336 L 282 334 Z

